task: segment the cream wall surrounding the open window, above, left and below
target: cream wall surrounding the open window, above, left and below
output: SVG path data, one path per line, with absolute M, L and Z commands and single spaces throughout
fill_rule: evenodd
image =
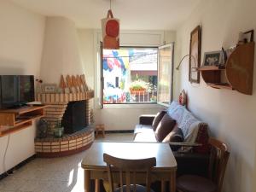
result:
M 132 130 L 138 123 L 139 115 L 154 114 L 160 111 L 160 106 L 151 105 L 108 105 L 100 109 L 100 66 L 98 60 L 101 31 L 92 29 L 79 30 L 79 49 L 85 67 L 86 79 L 90 87 L 96 91 L 94 99 L 96 123 L 104 123 L 107 130 Z M 123 46 L 160 46 L 174 42 L 175 32 L 169 31 L 122 31 L 120 45 Z

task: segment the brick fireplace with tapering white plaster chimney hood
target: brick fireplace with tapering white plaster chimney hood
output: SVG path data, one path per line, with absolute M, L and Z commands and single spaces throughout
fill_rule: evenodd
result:
M 94 127 L 90 123 L 90 99 L 94 97 L 94 91 L 85 81 L 77 38 L 73 20 L 60 16 L 47 17 L 40 70 L 40 79 L 44 83 L 41 84 L 43 88 L 38 84 L 37 99 L 48 106 L 44 110 L 44 119 L 49 123 L 49 137 L 36 138 L 35 148 L 39 156 L 77 153 L 94 141 Z M 55 88 L 46 90 L 47 84 L 54 84 Z M 80 102 L 84 105 L 72 111 L 72 106 Z M 79 113 L 80 119 L 72 119 L 78 116 L 78 110 L 83 112 Z M 66 133 L 64 137 L 55 138 L 52 133 L 59 121 L 62 121 Z M 76 124 L 77 121 L 80 125 Z

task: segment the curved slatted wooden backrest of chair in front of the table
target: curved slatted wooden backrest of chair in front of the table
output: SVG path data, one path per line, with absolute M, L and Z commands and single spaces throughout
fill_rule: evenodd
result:
M 119 183 L 120 183 L 120 191 L 123 191 L 123 174 L 125 173 L 125 185 L 126 192 L 131 192 L 131 184 L 133 184 L 133 191 L 136 191 L 136 175 L 137 172 L 145 172 L 146 173 L 146 189 L 147 192 L 150 191 L 151 184 L 151 169 L 156 165 L 155 158 L 148 158 L 142 160 L 125 160 L 113 157 L 109 154 L 103 154 L 103 160 L 107 163 L 108 166 L 108 182 L 110 184 L 111 192 L 113 189 L 113 172 L 119 173 Z M 132 183 L 131 183 L 131 175 Z

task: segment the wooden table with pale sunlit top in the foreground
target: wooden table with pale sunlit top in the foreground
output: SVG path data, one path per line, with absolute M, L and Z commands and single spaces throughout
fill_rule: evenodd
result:
M 176 190 L 177 162 L 168 143 L 93 143 L 85 152 L 82 167 L 84 168 L 84 190 L 90 191 L 90 179 L 96 180 L 96 192 L 99 192 L 99 179 L 108 181 L 106 163 L 103 154 L 107 153 L 124 159 L 156 158 L 156 166 L 152 171 L 152 182 L 161 181 L 161 191 L 165 182 L 170 181 L 170 191 Z M 143 178 L 143 175 L 142 175 Z M 137 179 L 138 183 L 140 179 Z M 143 179 L 144 181 L 144 179 Z

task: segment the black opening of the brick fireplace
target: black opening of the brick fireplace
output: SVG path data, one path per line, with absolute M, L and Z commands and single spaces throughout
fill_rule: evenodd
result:
M 84 129 L 89 122 L 86 120 L 86 102 L 85 100 L 77 102 L 68 102 L 67 109 L 61 119 L 61 125 L 64 126 L 64 133 L 72 134 Z

